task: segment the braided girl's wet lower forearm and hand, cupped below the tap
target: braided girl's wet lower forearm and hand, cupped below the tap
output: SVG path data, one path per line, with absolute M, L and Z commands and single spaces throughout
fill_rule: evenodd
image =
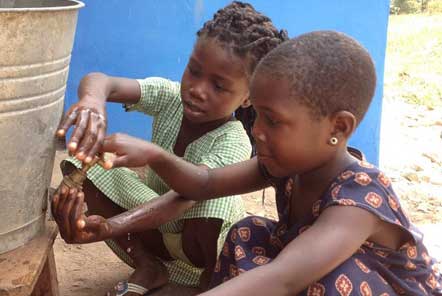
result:
M 54 194 L 51 210 L 59 225 L 61 237 L 68 243 L 92 243 L 112 239 L 129 232 L 157 229 L 160 225 L 180 217 L 195 201 L 169 191 L 140 206 L 105 219 L 85 216 L 84 194 L 69 191 L 63 185 Z

